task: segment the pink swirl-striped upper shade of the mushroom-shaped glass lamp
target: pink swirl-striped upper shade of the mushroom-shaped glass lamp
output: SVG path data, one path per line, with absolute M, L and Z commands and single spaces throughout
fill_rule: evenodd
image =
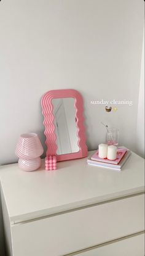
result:
M 20 136 L 15 154 L 20 159 L 34 159 L 44 152 L 41 141 L 36 133 L 25 133 Z

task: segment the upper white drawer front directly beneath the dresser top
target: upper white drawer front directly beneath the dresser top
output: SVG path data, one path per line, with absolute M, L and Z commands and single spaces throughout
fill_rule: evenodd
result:
M 144 229 L 144 195 L 12 226 L 14 256 L 59 256 Z

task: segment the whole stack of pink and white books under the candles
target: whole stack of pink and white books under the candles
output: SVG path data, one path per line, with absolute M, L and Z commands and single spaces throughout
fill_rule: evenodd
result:
M 119 147 L 117 149 L 117 158 L 116 160 L 109 160 L 109 159 L 101 159 L 98 156 L 98 150 L 92 157 L 87 159 L 88 165 L 95 165 L 98 167 L 109 168 L 112 170 L 120 171 L 122 169 L 123 164 L 127 161 L 128 157 L 130 156 L 131 152 L 129 149 L 124 147 Z

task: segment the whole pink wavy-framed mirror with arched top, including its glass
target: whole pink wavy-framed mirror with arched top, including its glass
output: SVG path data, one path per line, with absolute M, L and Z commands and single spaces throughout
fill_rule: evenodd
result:
M 84 108 L 81 94 L 74 89 L 52 90 L 42 96 L 46 157 L 57 162 L 87 157 Z

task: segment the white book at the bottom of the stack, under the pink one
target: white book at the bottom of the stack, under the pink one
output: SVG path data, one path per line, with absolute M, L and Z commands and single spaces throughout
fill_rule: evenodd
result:
M 120 160 L 120 163 L 118 165 L 113 165 L 111 163 L 103 163 L 103 162 L 98 162 L 95 160 L 92 160 L 90 158 L 87 159 L 88 165 L 93 165 L 93 166 L 98 166 L 98 167 L 103 167 L 103 168 L 108 168 L 116 171 L 120 171 L 121 168 L 123 167 L 124 163 L 127 161 L 128 157 L 130 156 L 131 152 L 128 150 L 122 160 Z

